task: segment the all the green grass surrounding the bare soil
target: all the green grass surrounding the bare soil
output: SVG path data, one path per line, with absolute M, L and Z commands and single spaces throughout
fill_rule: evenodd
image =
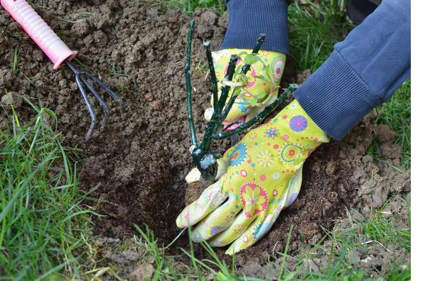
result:
M 198 7 L 225 14 L 220 0 L 140 2 L 150 8 L 179 8 L 188 15 Z M 320 5 L 310 1 L 290 5 L 290 55 L 299 71 L 317 69 L 330 55 L 334 43 L 354 27 L 346 20 L 345 4 L 343 0 L 325 0 Z M 13 73 L 19 71 L 17 50 L 11 65 Z M 0 280 L 102 280 L 105 276 L 124 280 L 119 274 L 120 265 L 98 253 L 97 237 L 91 229 L 93 217 L 100 214 L 86 204 L 96 205 L 96 198 L 91 197 L 93 190 L 79 189 L 79 161 L 84 155 L 67 147 L 66 137 L 56 130 L 52 110 L 30 101 L 24 103 L 34 115 L 30 120 L 18 115 L 13 105 L 1 108 L 7 112 L 7 126 L 0 131 Z M 389 125 L 397 133 L 395 143 L 402 147 L 403 157 L 402 167 L 396 168 L 409 170 L 410 81 L 389 103 L 381 105 L 375 116 L 377 124 Z M 382 160 L 374 147 L 368 151 Z M 324 229 L 326 243 L 319 241 L 297 253 L 288 252 L 289 235 L 285 251 L 271 261 L 277 276 L 280 280 L 367 280 L 366 273 L 347 258 L 354 248 L 365 251 L 368 247 L 359 243 L 358 237 L 378 241 L 384 248 L 398 245 L 400 251 L 410 253 L 410 230 L 399 229 L 397 217 L 386 216 L 385 207 L 370 217 L 348 215 L 341 227 Z M 135 229 L 138 234 L 123 243 L 120 250 L 131 244 L 143 257 L 141 264 L 152 258 L 154 270 L 150 276 L 154 280 L 207 280 L 211 274 L 217 280 L 257 280 L 239 275 L 208 244 L 203 246 L 210 258 L 196 258 L 191 244 L 181 249 L 189 263 L 177 266 L 178 258 L 166 253 L 173 242 L 159 245 L 147 226 L 135 225 Z M 331 258 L 323 270 L 306 267 L 309 260 L 329 256 L 329 252 Z M 410 266 L 394 264 L 383 276 L 380 280 L 409 280 Z

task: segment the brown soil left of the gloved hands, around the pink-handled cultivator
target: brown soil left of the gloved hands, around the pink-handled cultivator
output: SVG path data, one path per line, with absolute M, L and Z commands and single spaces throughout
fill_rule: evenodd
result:
M 148 224 L 162 241 L 171 241 L 179 234 L 175 217 L 184 207 L 184 175 L 192 167 L 183 73 L 190 18 L 177 10 L 149 9 L 139 1 L 31 4 L 72 50 L 79 51 L 77 58 L 87 70 L 123 97 L 125 110 L 107 98 L 111 117 L 106 130 L 95 131 L 84 142 L 90 117 L 70 71 L 54 71 L 4 10 L 0 88 L 36 104 L 40 98 L 42 105 L 55 110 L 59 130 L 72 147 L 82 149 L 81 188 L 97 186 L 92 196 L 104 200 L 98 212 L 108 215 L 96 222 L 97 234 L 129 236 L 135 231 L 133 224 Z M 195 18 L 193 60 L 200 61 L 205 59 L 203 39 L 214 38 L 212 46 L 217 48 L 227 22 L 213 11 L 198 11 Z M 15 48 L 17 74 L 12 70 Z M 203 69 L 194 71 L 193 86 L 197 130 L 203 132 L 208 105 Z M 24 119 L 33 113 L 25 103 L 15 106 Z

